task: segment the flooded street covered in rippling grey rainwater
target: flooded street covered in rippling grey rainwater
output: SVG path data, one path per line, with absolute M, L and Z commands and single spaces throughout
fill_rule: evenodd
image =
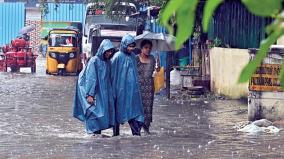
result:
M 247 119 L 235 100 L 167 101 L 157 96 L 151 135 L 87 135 L 72 117 L 77 77 L 0 73 L 0 158 L 284 158 L 284 131 L 249 135 L 234 125 Z M 103 131 L 112 134 L 112 130 Z

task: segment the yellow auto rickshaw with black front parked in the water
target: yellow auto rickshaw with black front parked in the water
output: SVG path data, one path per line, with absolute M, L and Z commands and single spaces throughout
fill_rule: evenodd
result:
M 80 33 L 75 29 L 52 29 L 46 39 L 46 73 L 78 75 L 83 68 Z

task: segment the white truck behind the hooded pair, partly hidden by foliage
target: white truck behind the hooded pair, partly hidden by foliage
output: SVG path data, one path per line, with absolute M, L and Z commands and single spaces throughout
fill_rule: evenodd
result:
M 111 30 L 112 34 L 121 34 L 121 31 L 134 31 L 136 32 L 137 21 L 136 18 L 130 17 L 133 13 L 137 12 L 137 9 L 133 3 L 119 2 L 115 7 L 119 7 L 120 10 L 113 11 L 113 14 L 118 17 L 127 17 L 127 18 L 118 18 L 110 19 L 105 14 L 105 4 L 100 3 L 89 3 L 86 6 L 86 14 L 83 25 L 83 53 L 86 58 L 93 56 L 92 54 L 92 39 L 93 32 L 95 30 Z M 129 18 L 130 17 L 130 18 Z M 106 27 L 110 28 L 107 29 Z M 125 32 L 124 32 L 125 33 Z M 98 35 L 97 37 L 104 36 Z M 106 35 L 107 36 L 107 35 Z M 120 37 L 120 35 L 117 35 Z

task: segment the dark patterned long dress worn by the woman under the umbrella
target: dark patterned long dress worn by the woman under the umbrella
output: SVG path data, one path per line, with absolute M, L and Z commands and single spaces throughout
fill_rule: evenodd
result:
M 138 77 L 140 83 L 140 91 L 142 96 L 142 104 L 144 107 L 144 129 L 149 131 L 150 123 L 152 122 L 153 101 L 154 101 L 154 78 L 153 72 L 155 69 L 155 57 L 150 55 L 150 63 L 142 63 L 139 56 L 137 59 Z

